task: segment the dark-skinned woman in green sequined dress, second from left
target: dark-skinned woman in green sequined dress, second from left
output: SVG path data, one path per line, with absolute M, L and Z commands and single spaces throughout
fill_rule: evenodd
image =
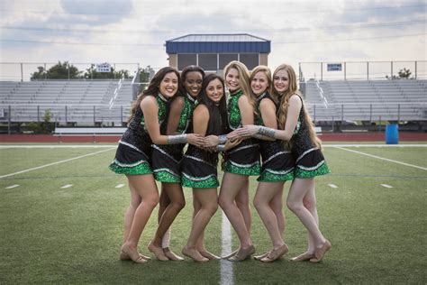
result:
M 204 70 L 199 67 L 188 66 L 181 71 L 179 96 L 170 103 L 167 120 L 160 127 L 163 133 L 172 135 L 192 132 L 193 110 L 196 97 L 202 90 L 203 78 Z M 181 187 L 181 160 L 184 146 L 185 144 L 152 145 L 154 178 L 161 182 L 159 228 L 153 244 L 157 247 L 161 246 L 164 255 L 172 261 L 183 260 L 169 249 L 169 244 L 170 223 L 186 203 Z M 165 232 L 167 226 L 168 230 Z M 159 256 L 159 258 L 163 257 Z

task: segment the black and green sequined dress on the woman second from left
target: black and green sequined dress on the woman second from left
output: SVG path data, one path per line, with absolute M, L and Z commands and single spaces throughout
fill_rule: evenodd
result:
M 195 108 L 195 98 L 186 95 L 184 106 L 179 117 L 177 133 L 191 132 L 193 110 Z M 162 105 L 165 108 L 166 105 Z M 160 132 L 166 134 L 168 118 L 160 125 Z M 154 178 L 160 182 L 181 183 L 180 162 L 183 156 L 183 149 L 186 144 L 152 144 L 151 166 Z

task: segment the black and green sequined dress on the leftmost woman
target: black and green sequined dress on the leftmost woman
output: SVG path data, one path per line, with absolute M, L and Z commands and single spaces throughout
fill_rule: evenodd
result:
M 156 100 L 159 104 L 158 115 L 161 122 L 165 118 L 165 109 L 160 106 L 166 99 L 158 96 Z M 153 173 L 150 167 L 151 143 L 150 134 L 145 127 L 144 115 L 141 107 L 138 106 L 132 121 L 119 141 L 114 161 L 109 166 L 110 170 L 129 175 Z

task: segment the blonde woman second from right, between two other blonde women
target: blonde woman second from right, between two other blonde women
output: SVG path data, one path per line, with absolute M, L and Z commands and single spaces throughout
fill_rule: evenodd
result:
M 250 95 L 257 102 L 255 123 L 277 129 L 278 104 L 270 95 L 272 85 L 268 67 L 258 66 L 250 73 Z M 295 161 L 282 141 L 262 138 L 263 140 L 259 140 L 262 169 L 254 206 L 268 230 L 273 249 L 254 258 L 261 262 L 273 262 L 288 251 L 283 241 L 285 216 L 282 211 L 282 196 L 285 181 L 294 179 Z

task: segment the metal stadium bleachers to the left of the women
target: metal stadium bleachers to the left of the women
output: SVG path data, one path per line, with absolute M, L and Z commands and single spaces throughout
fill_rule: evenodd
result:
M 50 110 L 52 122 L 114 123 L 126 121 L 132 102 L 132 81 L 123 80 L 43 80 L 0 82 L 0 108 L 7 121 L 11 106 L 12 122 L 37 122 Z M 114 91 L 117 88 L 117 93 Z

